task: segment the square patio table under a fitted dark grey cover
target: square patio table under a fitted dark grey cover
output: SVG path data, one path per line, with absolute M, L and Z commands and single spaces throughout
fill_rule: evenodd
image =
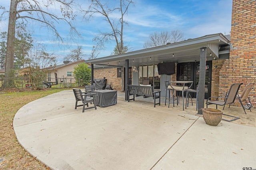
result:
M 117 91 L 116 90 L 95 90 L 96 105 L 106 107 L 117 104 Z

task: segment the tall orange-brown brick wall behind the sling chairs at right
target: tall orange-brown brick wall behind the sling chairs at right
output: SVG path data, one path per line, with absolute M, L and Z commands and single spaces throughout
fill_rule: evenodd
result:
M 256 1 L 233 0 L 230 34 L 230 59 L 220 69 L 220 95 L 233 83 L 256 81 Z M 252 90 L 251 97 L 256 97 Z

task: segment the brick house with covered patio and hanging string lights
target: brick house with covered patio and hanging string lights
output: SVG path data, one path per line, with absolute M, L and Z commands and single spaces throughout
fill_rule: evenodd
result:
M 202 85 L 199 93 L 203 96 L 205 91 L 205 98 L 225 95 L 233 83 L 244 83 L 241 89 L 249 83 L 255 83 L 256 1 L 233 0 L 232 3 L 230 36 L 216 33 L 88 60 L 86 63 L 91 63 L 93 78 L 106 77 L 107 82 L 112 81 L 115 90 L 124 90 L 126 84 L 144 84 L 144 80 L 149 80 L 148 83 L 155 86 L 157 81 L 162 96 L 165 95 L 164 81 L 191 80 L 194 81 L 194 89 L 198 83 Z M 175 63 L 175 74 L 158 76 L 159 63 Z M 199 72 L 203 73 L 203 70 L 206 76 L 201 76 L 199 80 Z M 250 96 L 256 97 L 255 88 L 251 90 Z M 125 100 L 128 100 L 127 94 Z M 203 103 L 204 99 L 200 98 L 198 111 L 202 111 Z

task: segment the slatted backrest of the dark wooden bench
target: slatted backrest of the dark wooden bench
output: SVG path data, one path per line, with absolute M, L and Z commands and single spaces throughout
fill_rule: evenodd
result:
M 128 85 L 129 94 L 137 94 L 138 96 L 153 97 L 153 86 L 136 86 Z

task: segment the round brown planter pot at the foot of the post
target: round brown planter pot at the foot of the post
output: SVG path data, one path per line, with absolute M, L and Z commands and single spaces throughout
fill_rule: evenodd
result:
M 217 126 L 222 119 L 222 111 L 212 108 L 203 108 L 203 117 L 206 124 Z

